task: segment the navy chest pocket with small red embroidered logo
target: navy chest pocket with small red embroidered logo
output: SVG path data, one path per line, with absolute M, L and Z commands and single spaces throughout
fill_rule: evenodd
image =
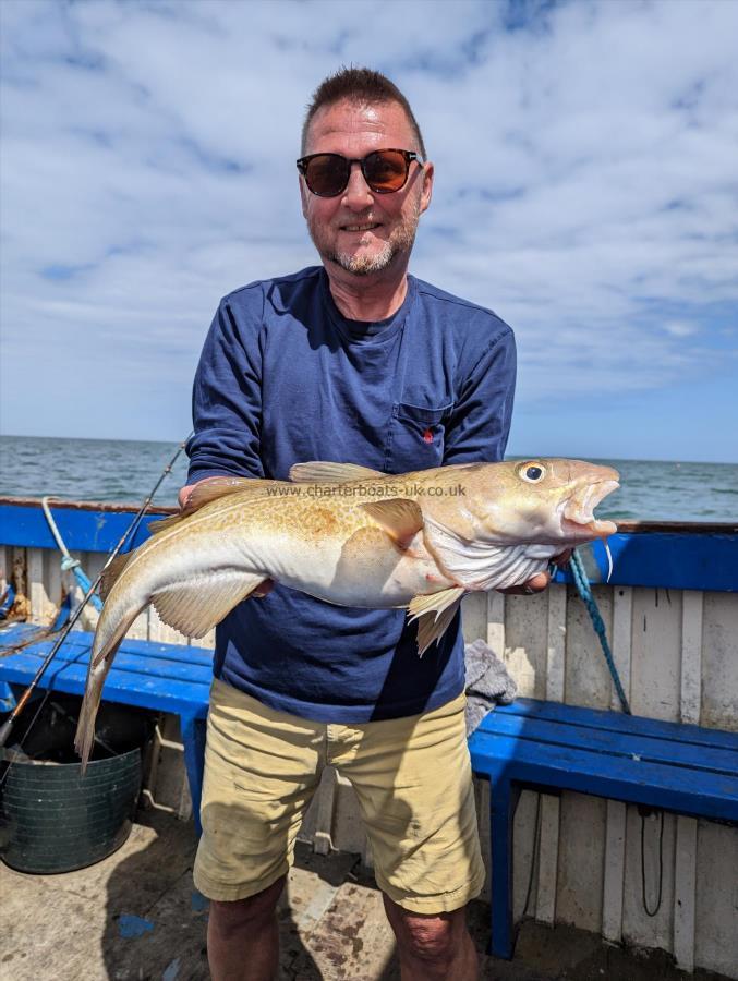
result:
M 408 473 L 440 467 L 445 445 L 444 423 L 452 408 L 422 409 L 407 402 L 394 405 L 385 447 L 385 472 Z

